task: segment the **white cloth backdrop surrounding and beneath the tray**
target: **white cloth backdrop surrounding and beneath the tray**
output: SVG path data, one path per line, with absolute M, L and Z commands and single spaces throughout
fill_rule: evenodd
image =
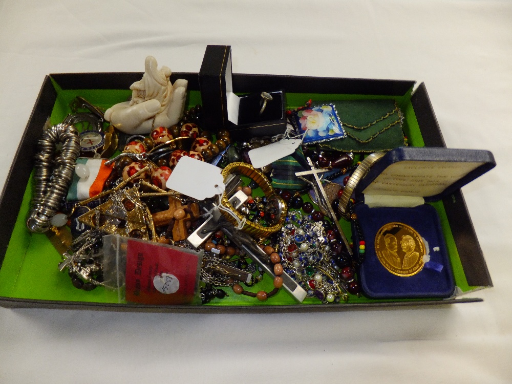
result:
M 0 0 L 0 183 L 46 74 L 142 72 L 149 54 L 197 72 L 207 44 L 232 46 L 234 73 L 425 81 L 447 146 L 498 162 L 463 188 L 495 287 L 323 314 L 0 308 L 0 382 L 512 381 L 512 4 Z

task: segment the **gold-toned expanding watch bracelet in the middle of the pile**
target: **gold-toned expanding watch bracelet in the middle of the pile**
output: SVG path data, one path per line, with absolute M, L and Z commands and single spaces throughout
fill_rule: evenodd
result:
M 283 226 L 283 223 L 286 220 L 286 214 L 288 211 L 288 207 L 283 199 L 281 197 L 275 195 L 274 188 L 272 187 L 272 184 L 267 179 L 267 177 L 261 173 L 258 169 L 255 169 L 252 165 L 243 163 L 243 162 L 234 162 L 228 164 L 223 170 L 222 170 L 222 176 L 224 177 L 224 182 L 226 182 L 228 176 L 231 173 L 240 174 L 243 176 L 248 177 L 249 179 L 253 180 L 255 183 L 257 183 L 260 188 L 263 190 L 263 193 L 267 198 L 275 197 L 279 200 L 282 206 L 281 210 L 281 216 L 279 217 L 279 220 L 276 224 L 270 226 L 270 227 L 264 227 L 260 223 L 253 223 L 250 221 L 246 221 L 242 230 L 248 234 L 250 234 L 251 237 L 255 239 L 264 239 L 270 234 L 277 232 L 281 229 Z M 229 203 L 229 197 L 226 195 L 226 192 L 222 195 L 222 205 L 224 205 L 226 208 L 228 208 L 231 212 L 233 212 L 234 215 L 237 216 L 239 220 L 245 219 L 244 216 L 240 214 L 236 209 L 233 208 L 233 206 Z M 233 225 L 238 225 L 238 222 L 227 212 L 222 211 L 222 215 Z

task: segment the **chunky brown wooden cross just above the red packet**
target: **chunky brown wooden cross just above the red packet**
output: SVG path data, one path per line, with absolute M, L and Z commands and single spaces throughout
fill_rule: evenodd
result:
M 183 212 L 179 211 L 180 209 L 183 210 Z M 172 227 L 173 240 L 185 240 L 188 237 L 186 222 L 199 217 L 199 205 L 197 203 L 182 205 L 179 199 L 174 196 L 169 196 L 169 209 L 156 212 L 156 214 L 152 216 L 155 227 L 171 225 L 174 221 Z

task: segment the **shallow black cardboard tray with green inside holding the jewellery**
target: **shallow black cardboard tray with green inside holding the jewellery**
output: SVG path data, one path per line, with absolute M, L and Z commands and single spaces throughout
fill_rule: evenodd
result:
M 126 100 L 131 94 L 130 85 L 141 77 L 142 73 L 70 73 L 52 74 L 45 78 L 0 198 L 3 214 L 3 225 L 0 228 L 0 261 L 3 263 L 0 268 L 0 305 L 117 311 L 306 312 L 481 301 L 480 298 L 466 297 L 390 301 L 351 296 L 348 303 L 337 305 L 307 301 L 296 305 L 286 297 L 286 292 L 282 292 L 281 298 L 264 304 L 256 302 L 248 305 L 246 301 L 233 301 L 229 305 L 212 302 L 203 306 L 144 306 L 119 304 L 98 289 L 84 292 L 73 288 L 67 274 L 58 271 L 60 257 L 46 236 L 29 233 L 25 225 L 32 193 L 31 172 L 37 140 L 48 117 L 52 124 L 60 122 L 67 115 L 67 105 L 75 96 L 80 95 L 93 104 L 108 107 Z M 198 74 L 174 73 L 171 80 L 174 82 L 177 78 L 188 80 L 188 105 L 200 103 Z M 410 145 L 445 146 L 425 85 L 419 84 L 414 92 L 413 87 L 414 81 L 406 80 L 233 74 L 234 92 L 285 89 L 288 107 L 301 106 L 311 98 L 393 98 L 404 113 L 403 127 Z M 25 193 L 20 193 L 23 190 Z M 492 286 L 461 191 L 456 190 L 442 202 L 436 203 L 435 207 L 441 217 L 457 286 L 462 292 Z

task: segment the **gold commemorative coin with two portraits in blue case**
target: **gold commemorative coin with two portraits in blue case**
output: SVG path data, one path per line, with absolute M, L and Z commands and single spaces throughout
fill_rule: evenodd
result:
M 375 235 L 380 264 L 397 276 L 412 276 L 423 268 L 425 244 L 412 227 L 403 223 L 383 225 Z

